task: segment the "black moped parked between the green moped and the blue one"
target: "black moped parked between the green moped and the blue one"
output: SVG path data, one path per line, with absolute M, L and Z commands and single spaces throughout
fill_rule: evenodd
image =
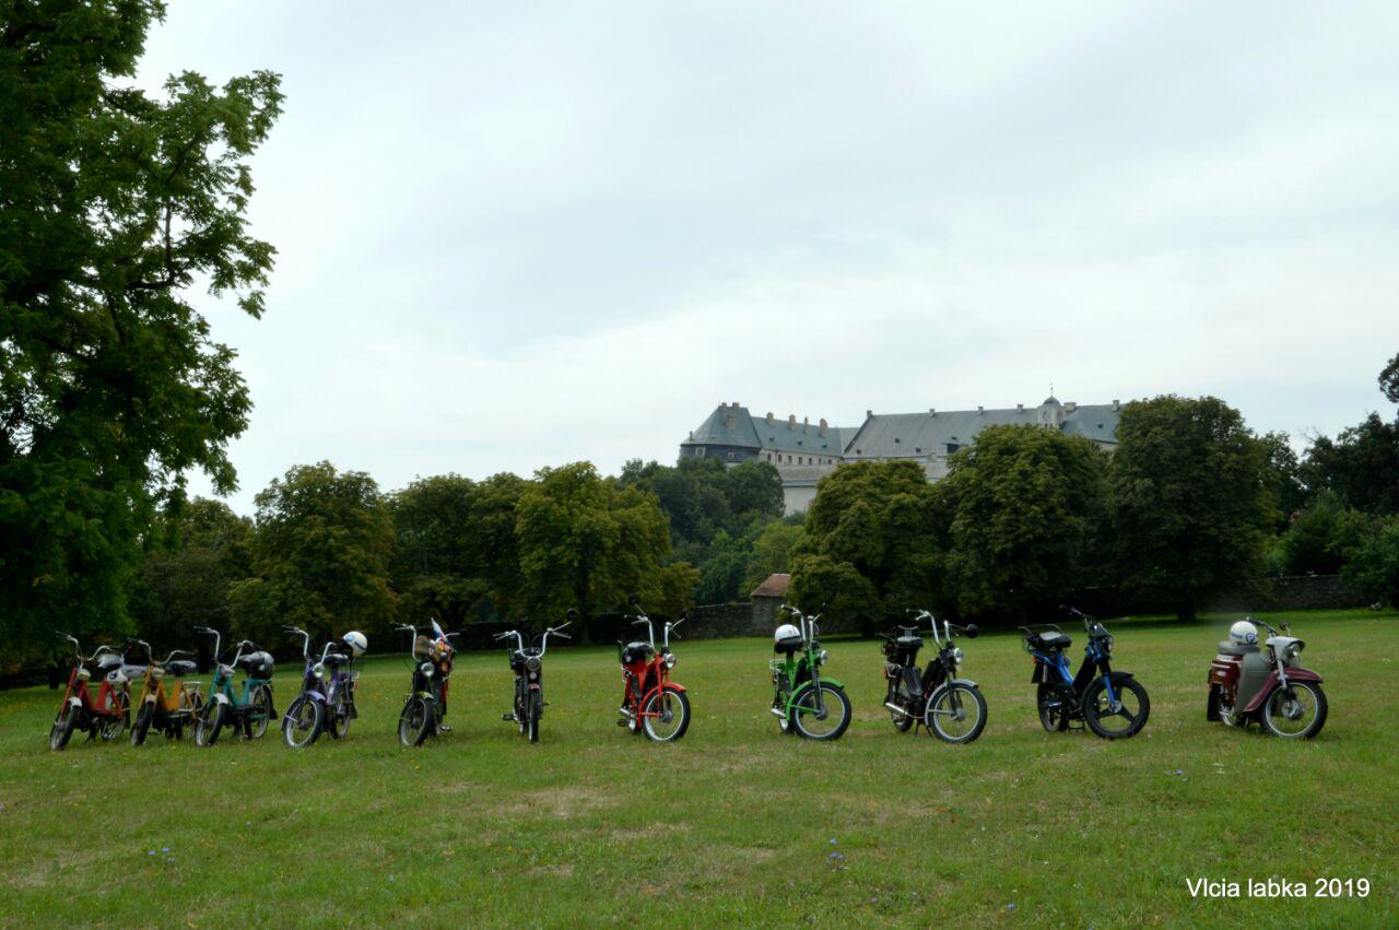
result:
M 884 708 L 894 722 L 894 729 L 907 733 L 919 723 L 928 733 L 947 743 L 971 743 L 986 726 L 986 699 L 975 681 L 957 677 L 957 666 L 964 654 L 953 645 L 953 631 L 968 639 L 977 638 L 977 624 L 957 627 L 942 622 L 942 636 L 937 634 L 939 620 L 926 610 L 911 610 L 918 622 L 932 625 L 933 645 L 937 654 L 928 661 L 928 668 L 918 670 L 918 650 L 923 639 L 918 625 L 898 627 L 884 634 L 884 680 L 888 688 L 884 694 Z

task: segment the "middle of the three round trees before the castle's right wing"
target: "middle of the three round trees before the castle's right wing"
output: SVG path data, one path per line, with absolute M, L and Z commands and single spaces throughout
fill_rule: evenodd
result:
M 964 614 L 1053 606 L 1084 587 L 1107 524 L 1107 456 L 1083 436 L 988 427 L 936 485 L 946 585 Z

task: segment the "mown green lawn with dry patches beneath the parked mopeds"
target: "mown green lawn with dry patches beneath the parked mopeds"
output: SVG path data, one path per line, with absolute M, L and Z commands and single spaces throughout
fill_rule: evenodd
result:
M 963 643 L 989 703 L 967 747 L 895 733 L 858 641 L 828 643 L 855 703 L 835 744 L 778 733 L 758 639 L 677 643 L 676 745 L 614 726 L 602 648 L 547 656 L 539 745 L 499 719 L 495 653 L 460 657 L 456 730 L 421 750 L 393 736 L 396 657 L 368 663 L 350 737 L 304 752 L 271 730 L 49 752 L 57 694 L 3 692 L 0 924 L 1396 926 L 1399 618 L 1291 620 L 1330 698 L 1311 743 L 1205 722 L 1221 618 L 1109 622 L 1153 705 L 1122 743 L 1044 733 L 1013 635 Z M 1371 892 L 1192 899 L 1198 877 Z

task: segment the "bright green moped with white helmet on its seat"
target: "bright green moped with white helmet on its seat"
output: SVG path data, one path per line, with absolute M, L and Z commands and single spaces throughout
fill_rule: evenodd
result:
M 782 624 L 772 635 L 772 652 L 785 654 L 768 663 L 778 727 L 807 740 L 838 740 L 851 726 L 851 699 L 844 684 L 821 677 L 821 666 L 828 657 L 816 624 L 821 613 L 807 617 L 790 604 L 779 610 L 796 620 L 796 625 Z

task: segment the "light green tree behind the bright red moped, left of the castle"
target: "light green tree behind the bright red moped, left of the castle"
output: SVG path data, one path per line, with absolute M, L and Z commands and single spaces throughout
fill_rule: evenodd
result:
M 599 477 L 586 462 L 536 474 L 520 494 L 515 537 L 520 607 L 536 622 L 569 608 L 609 611 L 630 593 L 674 614 L 698 580 L 688 564 L 665 565 L 670 534 L 656 498 Z

